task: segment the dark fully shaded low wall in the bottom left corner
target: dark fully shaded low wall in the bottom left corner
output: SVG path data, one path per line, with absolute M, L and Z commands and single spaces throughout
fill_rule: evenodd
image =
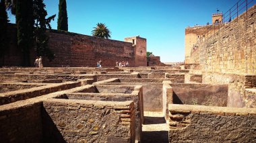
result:
M 41 105 L 0 107 L 1 142 L 42 142 Z

